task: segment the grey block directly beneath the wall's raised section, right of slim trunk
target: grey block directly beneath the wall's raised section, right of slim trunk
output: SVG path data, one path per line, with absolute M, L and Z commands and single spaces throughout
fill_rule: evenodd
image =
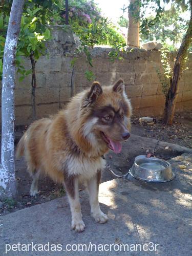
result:
M 36 63 L 36 73 L 43 73 L 50 71 L 61 71 L 62 58 L 61 56 L 47 57 L 41 56 Z

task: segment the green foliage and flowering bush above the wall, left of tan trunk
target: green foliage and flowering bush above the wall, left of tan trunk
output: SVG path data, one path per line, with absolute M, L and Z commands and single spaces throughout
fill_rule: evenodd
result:
M 5 0 L 0 4 L 0 79 L 3 70 L 3 51 L 12 1 Z M 25 2 L 21 30 L 18 38 L 16 65 L 20 80 L 32 70 L 25 70 L 23 58 L 33 56 L 36 62 L 42 54 L 46 54 L 45 42 L 51 39 L 48 25 L 64 25 L 66 18 L 65 1 L 63 0 L 28 0 Z M 69 24 L 81 41 L 79 51 L 86 53 L 87 61 L 92 66 L 89 47 L 94 45 L 125 46 L 124 37 L 118 29 L 102 17 L 100 9 L 93 0 L 69 1 Z M 114 50 L 117 52 L 117 49 Z M 89 72 L 86 77 L 91 79 Z

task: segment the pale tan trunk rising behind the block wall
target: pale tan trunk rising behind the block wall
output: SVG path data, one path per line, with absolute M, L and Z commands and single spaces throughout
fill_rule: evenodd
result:
M 135 10 L 131 11 L 131 9 L 134 7 L 134 3 L 136 0 L 130 0 L 130 6 L 128 8 L 128 31 L 127 31 L 127 47 L 139 47 L 139 22 L 136 17 L 133 16 L 133 12 L 135 14 L 138 14 L 140 8 L 139 6 L 135 8 Z

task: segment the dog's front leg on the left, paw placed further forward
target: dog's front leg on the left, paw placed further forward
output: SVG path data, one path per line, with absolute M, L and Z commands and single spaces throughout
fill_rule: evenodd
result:
M 64 181 L 72 215 L 72 229 L 77 232 L 82 232 L 84 230 L 84 222 L 82 221 L 81 206 L 79 202 L 79 182 L 76 176 L 67 176 Z

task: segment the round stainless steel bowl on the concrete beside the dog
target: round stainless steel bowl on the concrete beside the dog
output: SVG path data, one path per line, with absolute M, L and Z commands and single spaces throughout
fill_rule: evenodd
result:
M 166 182 L 175 178 L 172 166 L 167 161 L 146 156 L 135 158 L 130 174 L 136 179 L 148 182 Z

